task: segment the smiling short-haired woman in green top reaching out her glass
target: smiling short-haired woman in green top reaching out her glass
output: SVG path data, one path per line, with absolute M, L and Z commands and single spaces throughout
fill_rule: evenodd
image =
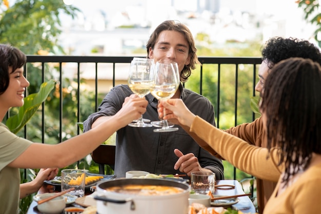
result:
M 0 44 L 0 120 L 11 107 L 24 105 L 29 82 L 24 76 L 26 55 L 17 48 Z M 127 100 L 126 100 L 127 101 Z M 62 168 L 88 155 L 116 130 L 146 111 L 145 99 L 128 99 L 110 120 L 56 145 L 32 143 L 19 138 L 0 123 L 0 213 L 17 213 L 19 168 Z M 10 185 L 7 185 L 10 184 Z

